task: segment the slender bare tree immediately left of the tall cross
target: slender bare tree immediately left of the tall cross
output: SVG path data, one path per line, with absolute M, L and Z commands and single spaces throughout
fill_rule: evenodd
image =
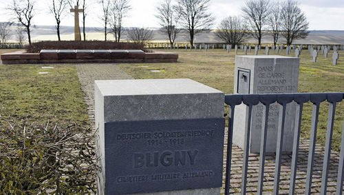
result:
M 58 41 L 61 41 L 60 36 L 60 23 L 63 17 L 63 12 L 65 11 L 65 7 L 67 6 L 67 2 L 65 0 L 50 0 L 48 1 L 50 12 L 54 15 L 56 21 L 56 32 Z

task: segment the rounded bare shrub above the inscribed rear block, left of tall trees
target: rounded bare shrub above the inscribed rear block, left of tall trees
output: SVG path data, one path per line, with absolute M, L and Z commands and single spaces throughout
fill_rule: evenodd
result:
M 215 36 L 228 44 L 239 44 L 248 37 L 247 24 L 239 17 L 226 17 L 219 24 Z

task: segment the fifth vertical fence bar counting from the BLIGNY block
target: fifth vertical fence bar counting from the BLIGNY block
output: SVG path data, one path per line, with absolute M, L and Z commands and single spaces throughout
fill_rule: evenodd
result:
M 297 104 L 297 112 L 295 114 L 295 130 L 294 130 L 294 141 L 292 147 L 292 167 L 290 173 L 290 187 L 289 194 L 295 193 L 295 180 L 297 178 L 297 160 L 299 158 L 299 145 L 300 145 L 300 130 L 301 130 L 301 119 L 302 119 L 303 103 Z

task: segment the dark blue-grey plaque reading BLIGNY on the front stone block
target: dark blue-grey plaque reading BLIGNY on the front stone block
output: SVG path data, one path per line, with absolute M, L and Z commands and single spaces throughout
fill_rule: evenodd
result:
M 224 118 L 105 123 L 107 194 L 222 186 Z

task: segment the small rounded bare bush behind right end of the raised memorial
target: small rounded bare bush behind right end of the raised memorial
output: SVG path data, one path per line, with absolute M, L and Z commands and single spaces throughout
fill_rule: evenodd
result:
M 128 39 L 140 45 L 145 45 L 148 41 L 151 41 L 153 37 L 153 30 L 149 30 L 148 28 L 135 27 L 128 30 Z

